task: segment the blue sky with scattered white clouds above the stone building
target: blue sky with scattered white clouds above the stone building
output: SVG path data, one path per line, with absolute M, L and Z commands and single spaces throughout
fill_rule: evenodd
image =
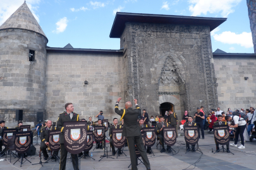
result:
M 0 0 L 0 25 L 23 0 Z M 49 47 L 119 49 L 109 38 L 116 12 L 228 18 L 211 32 L 212 51 L 253 53 L 246 1 L 242 0 L 27 0 Z

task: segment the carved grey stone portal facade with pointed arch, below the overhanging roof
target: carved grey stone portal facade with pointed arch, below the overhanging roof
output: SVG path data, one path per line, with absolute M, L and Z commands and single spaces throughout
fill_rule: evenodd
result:
M 161 102 L 173 102 L 179 118 L 184 110 L 216 106 L 209 26 L 126 23 L 120 38 L 128 64 L 125 91 L 150 115 L 159 114 Z M 168 84 L 175 90 L 162 91 Z

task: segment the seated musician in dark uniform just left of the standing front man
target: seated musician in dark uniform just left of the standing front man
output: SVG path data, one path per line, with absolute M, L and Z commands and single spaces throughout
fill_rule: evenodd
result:
M 49 157 L 46 151 L 47 147 L 49 147 L 49 137 L 48 137 L 49 130 L 56 130 L 56 127 L 52 127 L 51 120 L 47 120 L 46 126 L 42 127 L 41 134 L 40 134 L 40 139 L 41 139 L 40 149 L 43 152 L 44 160 L 47 160 Z M 56 151 L 56 153 L 54 154 L 58 155 L 58 151 Z M 52 159 L 54 159 L 54 157 L 52 157 Z

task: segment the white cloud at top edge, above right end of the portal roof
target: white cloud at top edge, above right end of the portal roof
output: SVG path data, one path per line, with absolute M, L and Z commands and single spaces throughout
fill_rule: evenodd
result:
M 188 0 L 190 12 L 192 16 L 199 16 L 207 13 L 221 13 L 221 16 L 228 17 L 233 13 L 235 6 L 242 0 Z

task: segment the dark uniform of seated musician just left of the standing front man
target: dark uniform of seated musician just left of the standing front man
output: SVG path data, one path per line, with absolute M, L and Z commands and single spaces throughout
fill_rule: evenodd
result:
M 43 152 L 43 155 L 44 155 L 44 158 L 48 158 L 48 154 L 47 154 L 47 145 L 46 145 L 46 142 L 49 142 L 49 136 L 48 136 L 48 132 L 49 130 L 56 130 L 56 127 L 43 127 L 40 131 L 41 135 L 40 135 L 40 140 L 41 140 L 41 144 L 40 144 L 40 149 L 42 150 Z M 54 152 L 54 154 L 57 154 L 58 155 L 58 151 L 57 152 Z

